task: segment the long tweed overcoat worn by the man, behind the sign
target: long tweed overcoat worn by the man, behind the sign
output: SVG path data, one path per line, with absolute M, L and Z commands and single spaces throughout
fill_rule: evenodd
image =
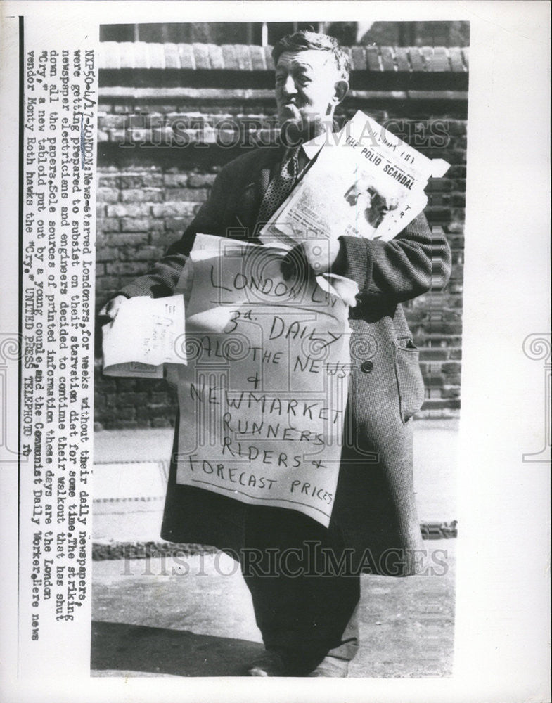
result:
M 257 148 L 223 167 L 210 198 L 181 240 L 121 292 L 129 297 L 171 295 L 198 232 L 255 241 L 262 197 L 280 158 L 276 148 Z M 333 527 L 338 527 L 347 546 L 364 554 L 368 571 L 402 576 L 413 572 L 408 555 L 421 548 L 410 420 L 421 408 L 424 387 L 418 350 L 401 302 L 427 292 L 436 283 L 446 283 L 450 250 L 442 236 L 432 235 L 423 214 L 390 242 L 349 236 L 342 242 L 345 264 L 336 273 L 355 280 L 359 295 L 349 316 L 348 439 L 342 449 Z M 176 440 L 175 436 L 175 446 Z M 162 537 L 239 550 L 247 506 L 210 491 L 177 485 L 175 477 L 172 462 Z M 285 520 L 284 508 L 270 510 L 282 510 Z

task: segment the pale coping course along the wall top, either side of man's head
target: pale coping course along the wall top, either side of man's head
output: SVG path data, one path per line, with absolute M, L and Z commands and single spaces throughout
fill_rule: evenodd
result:
M 344 46 L 353 72 L 467 73 L 469 50 L 458 46 Z M 271 46 L 103 41 L 100 70 L 274 70 Z

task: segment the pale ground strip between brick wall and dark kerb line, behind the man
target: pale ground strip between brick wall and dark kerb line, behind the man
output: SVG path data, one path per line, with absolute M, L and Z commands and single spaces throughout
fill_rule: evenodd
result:
M 94 539 L 158 541 L 173 430 L 94 435 Z M 458 420 L 416 420 L 414 486 L 422 522 L 456 519 Z

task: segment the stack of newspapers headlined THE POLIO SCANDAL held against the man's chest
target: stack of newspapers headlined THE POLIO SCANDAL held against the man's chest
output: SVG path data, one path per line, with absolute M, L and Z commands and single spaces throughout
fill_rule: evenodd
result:
M 260 240 L 286 248 L 341 235 L 388 241 L 427 205 L 423 189 L 430 177 L 447 169 L 446 161 L 429 159 L 359 110 L 326 136 Z

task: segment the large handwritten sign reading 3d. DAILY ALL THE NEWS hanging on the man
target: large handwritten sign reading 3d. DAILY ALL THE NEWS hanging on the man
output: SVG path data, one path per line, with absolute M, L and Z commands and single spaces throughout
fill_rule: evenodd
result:
M 188 365 L 174 367 L 176 481 L 327 527 L 347 402 L 347 304 L 314 278 L 284 280 L 281 250 L 209 239 L 218 250 L 191 257 Z

